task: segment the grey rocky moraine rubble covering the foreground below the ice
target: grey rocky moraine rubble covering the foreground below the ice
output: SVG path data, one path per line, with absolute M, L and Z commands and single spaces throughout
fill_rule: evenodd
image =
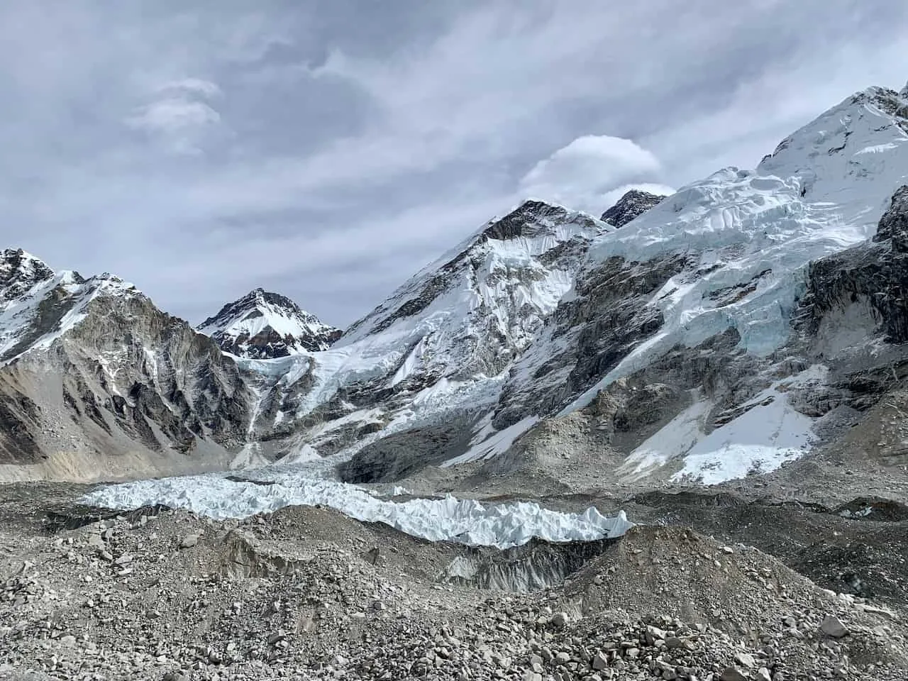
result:
M 117 515 L 75 504 L 84 486 L 9 484 L 0 678 L 905 678 L 908 508 L 767 493 L 794 473 L 552 495 L 646 525 L 508 551 L 325 508 Z

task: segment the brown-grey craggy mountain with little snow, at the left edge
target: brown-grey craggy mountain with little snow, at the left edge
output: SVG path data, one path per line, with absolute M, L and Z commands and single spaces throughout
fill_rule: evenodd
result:
M 224 466 L 251 401 L 210 339 L 110 274 L 0 254 L 0 477 Z

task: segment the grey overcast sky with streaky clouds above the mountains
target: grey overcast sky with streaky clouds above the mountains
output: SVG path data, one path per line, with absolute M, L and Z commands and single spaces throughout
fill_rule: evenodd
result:
M 753 168 L 906 80 L 903 0 L 5 0 L 0 243 L 346 326 L 530 196 Z

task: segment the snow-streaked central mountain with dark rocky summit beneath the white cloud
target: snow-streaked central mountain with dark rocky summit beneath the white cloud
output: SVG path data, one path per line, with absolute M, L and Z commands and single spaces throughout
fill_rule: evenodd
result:
M 288 451 L 351 451 L 380 437 L 470 424 L 494 404 L 511 364 L 570 291 L 590 244 L 612 228 L 580 212 L 525 202 L 431 263 L 330 350 L 297 357 L 262 384 L 257 428 L 294 435 Z M 273 367 L 257 363 L 250 370 Z M 458 449 L 418 433 L 411 452 Z

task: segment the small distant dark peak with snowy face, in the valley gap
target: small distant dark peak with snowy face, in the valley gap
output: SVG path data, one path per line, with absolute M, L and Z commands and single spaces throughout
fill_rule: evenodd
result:
M 343 332 L 321 323 L 289 298 L 262 289 L 224 305 L 202 321 L 198 331 L 211 336 L 225 352 L 258 360 L 328 350 Z

